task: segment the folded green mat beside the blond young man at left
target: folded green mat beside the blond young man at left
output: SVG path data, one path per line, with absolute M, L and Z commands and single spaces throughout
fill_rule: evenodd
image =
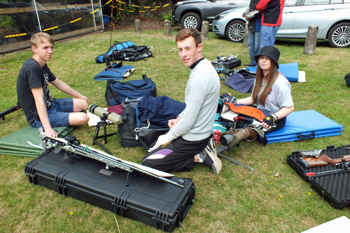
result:
M 68 134 L 66 126 L 54 127 L 57 135 L 63 138 Z M 70 126 L 69 131 L 73 131 L 76 127 Z M 37 128 L 26 126 L 0 139 L 0 154 L 17 155 L 25 157 L 37 157 L 43 153 L 43 150 L 30 146 L 27 142 L 39 146 L 41 137 Z

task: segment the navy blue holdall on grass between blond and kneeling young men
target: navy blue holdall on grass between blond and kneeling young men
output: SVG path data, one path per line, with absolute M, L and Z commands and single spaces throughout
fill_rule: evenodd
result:
M 143 74 L 142 79 L 117 82 L 108 80 L 105 90 L 105 100 L 108 106 L 120 104 L 126 99 L 139 99 L 142 97 L 157 96 L 157 89 L 154 82 Z

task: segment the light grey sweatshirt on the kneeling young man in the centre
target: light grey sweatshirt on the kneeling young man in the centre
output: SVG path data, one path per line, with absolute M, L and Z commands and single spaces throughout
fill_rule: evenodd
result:
M 210 136 L 220 93 L 220 79 L 207 59 L 190 71 L 185 90 L 186 108 L 177 124 L 170 129 L 175 137 L 199 141 Z

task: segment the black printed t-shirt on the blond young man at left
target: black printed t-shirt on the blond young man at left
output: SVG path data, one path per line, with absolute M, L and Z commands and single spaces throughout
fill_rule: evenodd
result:
M 48 90 L 48 82 L 54 81 L 56 77 L 45 64 L 42 68 L 32 57 L 28 58 L 17 77 L 17 97 L 23 109 L 27 122 L 31 125 L 39 117 L 36 110 L 34 96 L 31 88 L 42 87 L 43 101 L 48 110 L 52 103 L 52 97 Z

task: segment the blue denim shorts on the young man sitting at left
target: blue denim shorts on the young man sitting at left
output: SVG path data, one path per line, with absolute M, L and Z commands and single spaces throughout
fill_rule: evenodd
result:
M 47 110 L 47 117 L 51 127 L 70 126 L 69 113 L 71 112 L 74 112 L 72 98 L 52 99 L 51 107 Z M 31 126 L 41 128 L 40 119 L 35 119 Z

